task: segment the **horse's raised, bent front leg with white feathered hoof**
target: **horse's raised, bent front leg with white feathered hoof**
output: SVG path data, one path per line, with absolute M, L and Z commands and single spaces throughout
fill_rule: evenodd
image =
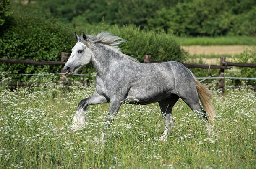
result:
M 84 116 L 84 110 L 86 110 L 88 105 L 93 105 L 93 104 L 100 104 L 100 103 L 108 103 L 109 100 L 100 95 L 99 93 L 95 92 L 92 96 L 89 98 L 85 98 L 80 101 L 78 104 L 78 108 L 76 110 L 76 114 L 73 119 L 73 123 L 71 126 L 71 130 L 75 131 L 76 129 L 79 129 L 81 127 L 84 127 L 85 125 L 85 116 Z

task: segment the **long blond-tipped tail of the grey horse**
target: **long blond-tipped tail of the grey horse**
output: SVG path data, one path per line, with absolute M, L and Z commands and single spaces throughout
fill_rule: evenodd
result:
M 196 80 L 196 77 L 191 72 L 194 80 L 196 81 L 196 89 L 198 93 L 198 97 L 203 104 L 204 110 L 209 114 L 208 121 L 213 120 L 215 116 L 215 110 L 212 106 L 212 102 L 210 101 L 210 98 L 212 95 L 209 93 L 208 89 L 202 85 L 199 81 Z

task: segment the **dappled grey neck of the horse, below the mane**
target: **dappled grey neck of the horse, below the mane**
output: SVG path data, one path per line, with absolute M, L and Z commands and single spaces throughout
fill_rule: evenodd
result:
M 112 63 L 116 63 L 120 60 L 120 54 L 115 53 L 113 50 L 100 46 L 94 49 L 94 55 L 91 58 L 91 63 L 99 76 L 105 76 L 109 73 L 110 67 L 113 66 Z

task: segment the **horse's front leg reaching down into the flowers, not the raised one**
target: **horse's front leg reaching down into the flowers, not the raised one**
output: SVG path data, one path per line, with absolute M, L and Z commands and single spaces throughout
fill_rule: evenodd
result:
M 107 125 L 111 124 L 114 121 L 114 116 L 118 113 L 120 106 L 121 106 L 121 99 L 117 99 L 117 98 L 111 99 L 110 109 L 106 119 Z M 105 142 L 104 131 L 102 132 L 102 135 L 101 135 L 101 142 L 102 144 Z

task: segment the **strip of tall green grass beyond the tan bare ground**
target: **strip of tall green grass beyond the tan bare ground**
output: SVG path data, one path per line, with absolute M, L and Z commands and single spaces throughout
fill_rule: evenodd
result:
M 255 36 L 179 37 L 180 45 L 256 45 Z

